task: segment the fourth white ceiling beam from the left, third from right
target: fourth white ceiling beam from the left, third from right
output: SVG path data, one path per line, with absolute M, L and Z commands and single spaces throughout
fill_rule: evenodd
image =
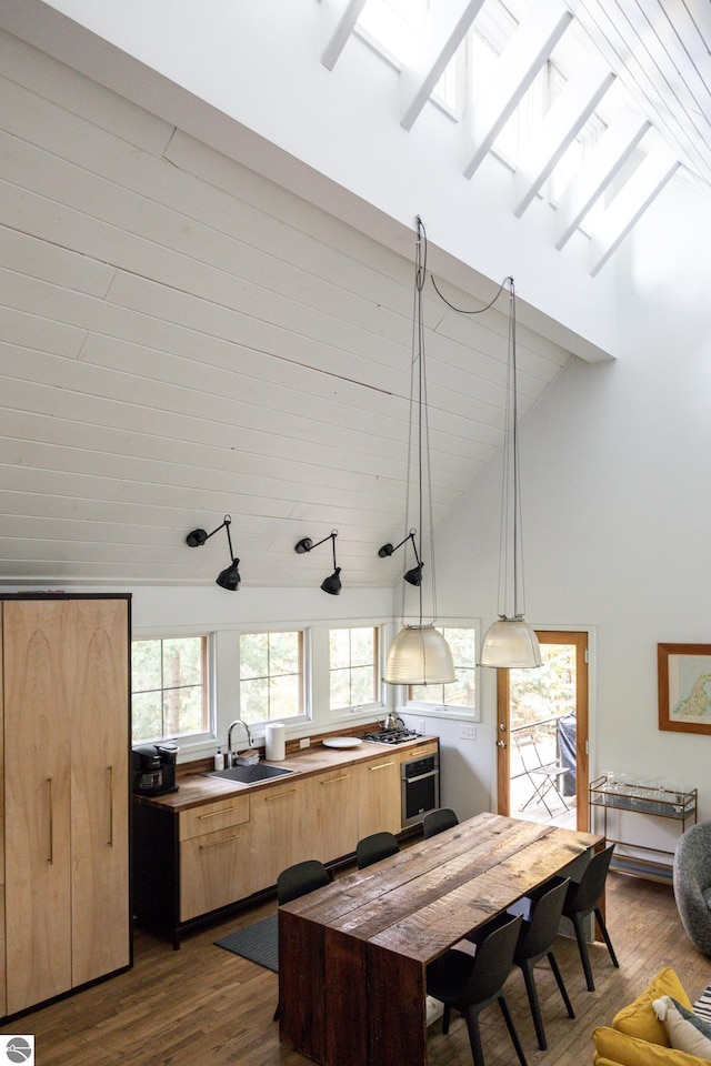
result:
M 550 178 L 613 81 L 613 72 L 599 62 L 579 69 L 565 83 L 521 154 L 514 185 L 517 219 Z

